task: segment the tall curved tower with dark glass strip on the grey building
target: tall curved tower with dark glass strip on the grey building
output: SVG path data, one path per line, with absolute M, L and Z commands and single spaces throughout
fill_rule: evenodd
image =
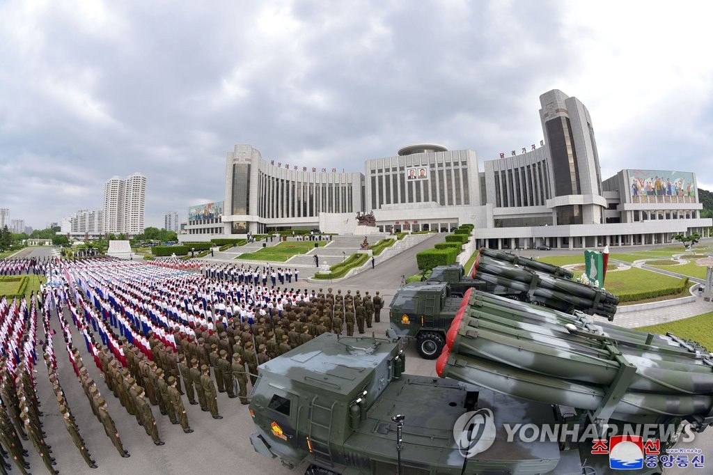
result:
M 558 89 L 540 96 L 540 120 L 548 151 L 553 225 L 603 223 L 607 201 L 592 118 L 584 104 Z

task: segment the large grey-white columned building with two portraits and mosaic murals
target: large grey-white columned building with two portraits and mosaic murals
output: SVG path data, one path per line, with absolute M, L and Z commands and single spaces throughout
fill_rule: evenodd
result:
M 209 240 L 270 230 L 363 233 L 450 230 L 473 223 L 477 245 L 595 247 L 707 234 L 694 173 L 620 170 L 602 180 L 592 119 L 577 98 L 540 96 L 544 140 L 483 162 L 436 143 L 366 160 L 364 173 L 264 160 L 251 145 L 227 153 L 225 198 L 189 210 L 188 235 Z M 210 209 L 208 209 L 210 208 Z M 193 217 L 193 218 L 192 218 Z

